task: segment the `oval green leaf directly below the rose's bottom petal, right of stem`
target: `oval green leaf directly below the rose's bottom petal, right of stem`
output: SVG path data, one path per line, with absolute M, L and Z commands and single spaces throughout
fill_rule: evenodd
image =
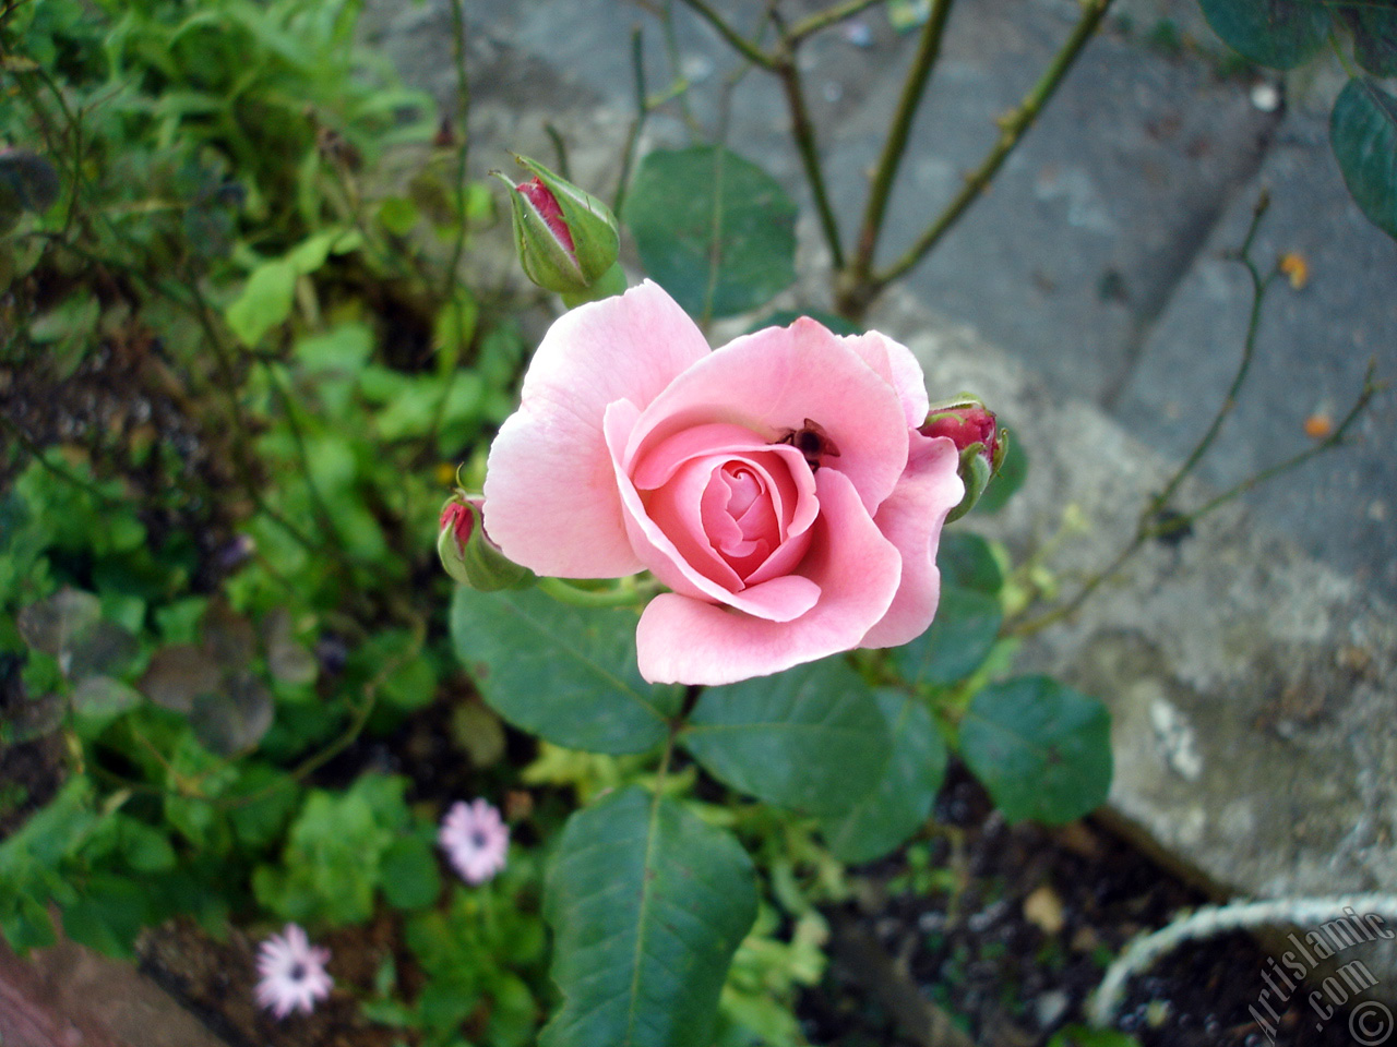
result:
M 877 702 L 840 658 L 707 688 L 682 738 L 733 789 L 826 815 L 872 790 L 891 751 Z

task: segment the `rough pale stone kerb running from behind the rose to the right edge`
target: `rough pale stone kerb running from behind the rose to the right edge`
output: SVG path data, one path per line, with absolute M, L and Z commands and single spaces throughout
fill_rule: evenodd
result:
M 907 339 L 933 395 L 968 388 L 1016 408 L 1028 480 L 970 528 L 1016 563 L 1051 549 L 1041 565 L 1063 596 L 1130 542 L 1169 458 L 908 297 L 872 320 Z M 1397 613 L 1257 510 L 1234 503 L 1176 544 L 1146 546 L 1071 620 L 1032 635 L 1016 669 L 1106 702 L 1112 808 L 1215 889 L 1397 892 Z

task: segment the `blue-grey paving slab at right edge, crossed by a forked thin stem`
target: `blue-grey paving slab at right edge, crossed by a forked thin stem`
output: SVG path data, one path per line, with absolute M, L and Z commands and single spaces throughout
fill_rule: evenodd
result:
M 1322 107 L 1323 110 L 1323 107 Z M 1327 113 L 1327 110 L 1323 110 Z M 1305 420 L 1336 424 L 1369 362 L 1397 374 L 1397 243 L 1375 229 L 1344 188 L 1327 144 L 1327 114 L 1292 112 L 1256 180 L 1228 208 L 1125 383 L 1113 413 L 1182 456 L 1221 403 L 1246 335 L 1250 281 L 1224 257 L 1246 232 L 1267 187 L 1271 208 L 1253 257 L 1263 272 L 1282 253 L 1309 267 L 1295 290 L 1268 293 L 1248 385 L 1200 476 L 1228 487 L 1313 441 Z M 1355 447 L 1248 496 L 1257 512 L 1359 584 L 1397 600 L 1397 394 L 1373 401 Z

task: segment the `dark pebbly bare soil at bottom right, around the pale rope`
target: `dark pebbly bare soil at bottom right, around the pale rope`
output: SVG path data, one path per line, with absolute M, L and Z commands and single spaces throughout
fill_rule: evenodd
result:
M 834 962 L 802 1001 L 812 1043 L 950 1046 L 963 1030 L 964 1043 L 1045 1044 L 1085 1023 L 1105 965 L 1134 935 L 1217 900 L 1099 821 L 1006 825 L 963 771 L 936 819 L 925 868 L 944 872 L 923 874 L 929 889 L 915 889 L 900 857 L 869 870 L 861 902 L 833 914 Z M 1298 1000 L 1268 1040 L 1248 1011 L 1267 955 L 1239 933 L 1179 946 L 1129 984 L 1116 1027 L 1144 1047 L 1351 1047 L 1347 1012 L 1316 1029 Z M 939 1040 L 937 1022 L 950 1026 Z

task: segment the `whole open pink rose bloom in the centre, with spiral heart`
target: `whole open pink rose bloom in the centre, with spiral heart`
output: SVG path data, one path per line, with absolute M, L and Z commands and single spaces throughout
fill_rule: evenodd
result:
M 485 526 L 538 574 L 669 586 L 636 634 L 652 683 L 895 646 L 936 613 L 963 494 L 926 412 L 916 359 L 877 332 L 802 318 L 710 350 L 647 281 L 545 335 L 490 448 Z

